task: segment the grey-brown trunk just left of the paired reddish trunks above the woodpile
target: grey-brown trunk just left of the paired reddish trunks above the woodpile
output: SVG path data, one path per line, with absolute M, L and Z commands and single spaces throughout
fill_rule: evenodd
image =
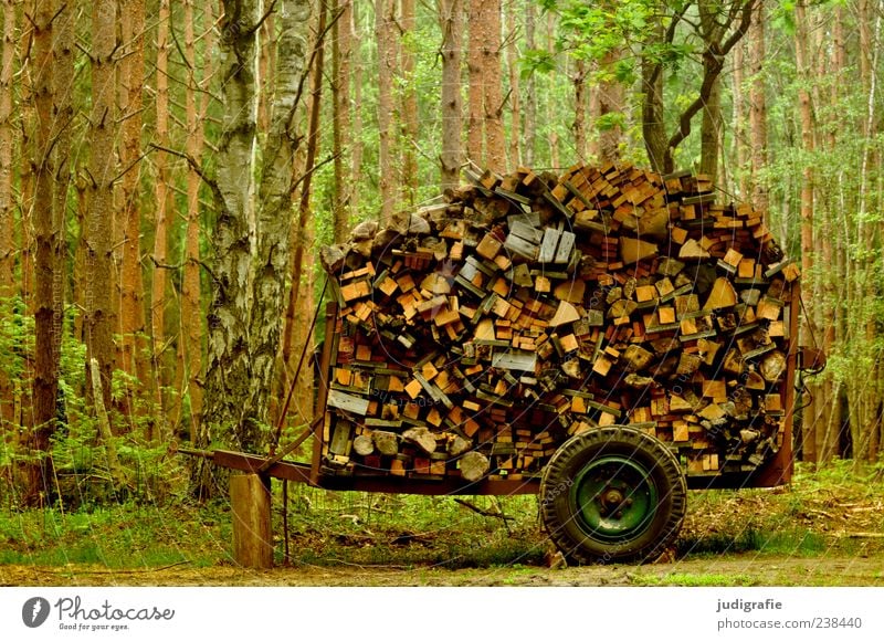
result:
M 461 46 L 463 17 L 461 0 L 439 0 L 442 28 L 442 154 L 440 188 L 454 189 L 461 174 Z

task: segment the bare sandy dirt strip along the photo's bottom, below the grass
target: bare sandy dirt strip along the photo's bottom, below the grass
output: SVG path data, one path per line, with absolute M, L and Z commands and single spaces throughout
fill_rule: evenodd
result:
M 179 565 L 147 571 L 0 566 L 3 586 L 884 586 L 884 555 L 777 558 L 754 554 L 644 566 L 561 569 L 281 567 L 267 571 Z

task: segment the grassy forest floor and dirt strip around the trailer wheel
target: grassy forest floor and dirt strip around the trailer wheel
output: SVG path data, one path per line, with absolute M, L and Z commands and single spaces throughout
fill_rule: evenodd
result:
M 641 566 L 550 568 L 534 496 L 471 497 L 471 509 L 297 487 L 285 514 L 281 503 L 266 571 L 233 564 L 223 504 L 4 512 L 0 586 L 884 586 L 881 470 L 692 492 L 675 546 Z

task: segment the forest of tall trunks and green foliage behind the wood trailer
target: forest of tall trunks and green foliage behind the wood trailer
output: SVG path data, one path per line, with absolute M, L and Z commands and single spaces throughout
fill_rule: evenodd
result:
M 880 470 L 884 4 L 0 6 L 6 507 L 223 495 L 176 450 L 265 454 L 313 423 L 320 249 L 467 166 L 688 169 L 750 203 L 828 356 L 797 460 Z

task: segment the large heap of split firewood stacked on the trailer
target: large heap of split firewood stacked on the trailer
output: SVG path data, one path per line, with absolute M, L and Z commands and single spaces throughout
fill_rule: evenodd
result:
M 772 456 L 799 271 L 760 213 L 688 172 L 466 176 L 322 252 L 326 472 L 519 479 L 627 423 L 692 475 Z

